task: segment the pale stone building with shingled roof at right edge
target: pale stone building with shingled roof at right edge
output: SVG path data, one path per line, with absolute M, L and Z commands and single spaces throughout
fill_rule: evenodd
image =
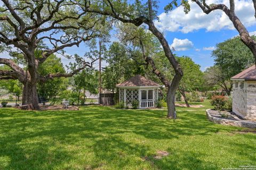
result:
M 233 82 L 233 112 L 247 120 L 256 120 L 255 65 L 235 75 L 231 80 Z

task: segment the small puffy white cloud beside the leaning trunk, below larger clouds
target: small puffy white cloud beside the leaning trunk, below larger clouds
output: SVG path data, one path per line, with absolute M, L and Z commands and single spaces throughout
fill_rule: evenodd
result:
M 186 39 L 174 38 L 173 43 L 170 45 L 171 48 L 173 47 L 177 51 L 185 51 L 193 48 L 193 46 L 194 44 L 187 38 Z

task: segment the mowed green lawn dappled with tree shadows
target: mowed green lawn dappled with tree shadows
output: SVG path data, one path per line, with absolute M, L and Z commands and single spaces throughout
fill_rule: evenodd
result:
M 213 124 L 203 108 L 166 111 L 87 106 L 0 109 L 0 169 L 221 169 L 256 164 L 256 134 Z M 195 111 L 185 111 L 193 109 Z M 157 151 L 168 156 L 156 159 Z

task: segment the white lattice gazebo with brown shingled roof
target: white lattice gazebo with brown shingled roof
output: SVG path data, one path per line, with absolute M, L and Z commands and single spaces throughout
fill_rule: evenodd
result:
M 158 88 L 161 86 L 142 75 L 136 75 L 116 87 L 119 88 L 119 102 L 123 101 L 125 106 L 131 106 L 133 100 L 138 100 L 139 108 L 151 108 L 156 105 Z

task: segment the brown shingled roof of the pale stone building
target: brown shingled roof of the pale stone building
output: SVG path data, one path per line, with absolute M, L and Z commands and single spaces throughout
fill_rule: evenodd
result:
M 256 70 L 255 65 L 249 67 L 248 69 L 236 74 L 232 79 L 243 79 L 243 80 L 256 80 Z

